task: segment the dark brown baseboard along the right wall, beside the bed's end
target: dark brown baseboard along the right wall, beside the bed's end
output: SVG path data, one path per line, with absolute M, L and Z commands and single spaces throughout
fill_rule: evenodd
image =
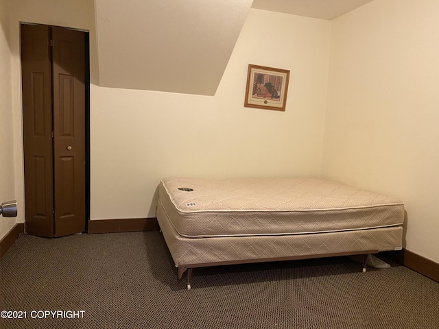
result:
M 409 269 L 427 276 L 431 280 L 439 282 L 439 264 L 423 256 L 419 256 L 410 250 L 402 249 L 398 252 L 383 252 L 383 256 L 394 260 L 396 263 L 404 265 Z

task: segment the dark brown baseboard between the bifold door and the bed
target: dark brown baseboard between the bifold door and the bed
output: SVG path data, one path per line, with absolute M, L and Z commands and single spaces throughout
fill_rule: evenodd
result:
M 131 218 L 131 219 L 99 219 L 88 221 L 88 234 L 137 232 L 159 230 L 157 219 Z

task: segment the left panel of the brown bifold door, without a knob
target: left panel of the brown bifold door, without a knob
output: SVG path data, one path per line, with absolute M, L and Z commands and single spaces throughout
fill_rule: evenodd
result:
M 26 231 L 54 235 L 50 30 L 21 25 Z

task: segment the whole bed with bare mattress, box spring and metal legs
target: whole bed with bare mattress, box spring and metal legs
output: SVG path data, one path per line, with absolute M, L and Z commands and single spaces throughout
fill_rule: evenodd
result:
M 399 199 L 320 178 L 164 178 L 156 217 L 178 268 L 402 248 Z

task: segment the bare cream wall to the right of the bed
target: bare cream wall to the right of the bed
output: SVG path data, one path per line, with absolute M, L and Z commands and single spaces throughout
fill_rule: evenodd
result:
M 439 1 L 333 21 L 322 175 L 400 197 L 404 246 L 439 263 Z

